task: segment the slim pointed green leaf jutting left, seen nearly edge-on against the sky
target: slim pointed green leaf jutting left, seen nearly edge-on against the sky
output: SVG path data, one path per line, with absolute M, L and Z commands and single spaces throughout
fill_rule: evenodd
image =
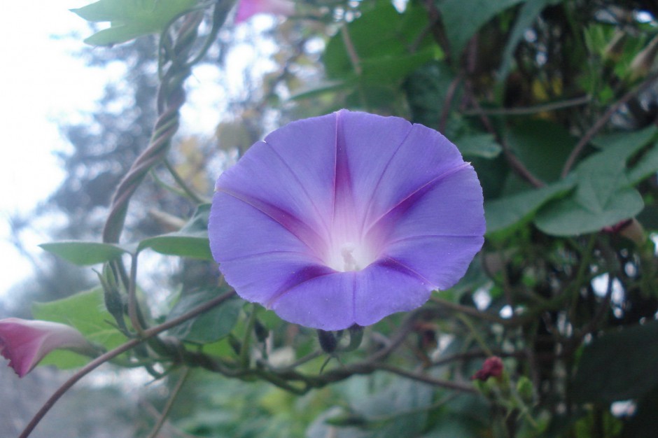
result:
M 112 243 L 84 241 L 41 243 L 39 246 L 78 266 L 109 262 L 129 252 L 126 248 Z

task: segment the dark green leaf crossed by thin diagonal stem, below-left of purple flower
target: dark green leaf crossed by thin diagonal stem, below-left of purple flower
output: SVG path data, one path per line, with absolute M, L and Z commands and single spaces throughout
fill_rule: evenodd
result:
M 169 312 L 167 320 L 172 320 L 188 313 L 188 311 L 217 297 L 222 292 L 218 288 L 214 288 L 182 297 L 172 311 Z M 202 313 L 196 318 L 177 325 L 169 330 L 168 333 L 171 336 L 183 339 L 183 341 L 195 342 L 196 344 L 210 344 L 230 333 L 237 323 L 240 309 L 243 305 L 244 301 L 241 299 L 230 299 L 228 302 L 206 313 Z

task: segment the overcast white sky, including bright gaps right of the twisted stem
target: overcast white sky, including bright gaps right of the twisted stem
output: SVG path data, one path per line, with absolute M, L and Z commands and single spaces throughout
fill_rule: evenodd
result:
M 83 38 L 89 36 L 90 31 L 85 20 L 69 9 L 92 1 L 3 4 L 0 14 L 0 56 L 3 59 L 0 69 L 0 184 L 3 188 L 0 190 L 0 297 L 10 286 L 32 274 L 29 262 L 8 243 L 8 218 L 15 213 L 29 213 L 62 181 L 62 170 L 54 153 L 71 146 L 59 134 L 58 122 L 76 122 L 88 117 L 97 99 L 102 97 L 105 83 L 121 73 L 90 69 L 76 57 L 76 52 L 83 47 Z M 260 15 L 234 29 L 233 37 L 242 43 L 235 44 L 228 54 L 231 69 L 224 80 L 232 88 L 241 83 L 242 69 L 251 59 L 266 59 L 265 52 L 276 50 L 262 39 L 258 40 L 258 50 L 253 45 L 255 29 L 263 31 L 273 24 L 271 17 Z M 78 37 L 71 37 L 76 33 Z M 271 68 L 263 62 L 258 73 Z M 213 134 L 221 117 L 221 102 L 226 100 L 218 74 L 217 69 L 200 66 L 188 80 L 188 104 L 181 114 L 184 131 L 204 136 Z M 22 235 L 26 248 L 34 255 L 41 252 L 38 243 L 48 241 L 47 228 L 48 224 L 43 224 L 36 233 Z

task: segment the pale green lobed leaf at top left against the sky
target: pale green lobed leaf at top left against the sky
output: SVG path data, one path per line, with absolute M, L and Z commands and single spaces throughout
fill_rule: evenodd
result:
M 71 11 L 87 21 L 111 22 L 109 29 L 90 36 L 85 43 L 113 45 L 163 31 L 196 3 L 197 0 L 100 0 Z

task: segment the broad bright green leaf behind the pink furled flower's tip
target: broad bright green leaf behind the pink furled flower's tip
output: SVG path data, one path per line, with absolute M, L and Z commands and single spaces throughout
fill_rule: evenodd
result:
M 100 344 L 108 350 L 120 346 L 127 340 L 111 325 L 114 318 L 105 310 L 101 288 L 79 292 L 51 302 L 34 303 L 32 316 L 39 320 L 71 325 L 89 341 Z M 57 365 L 59 368 L 68 369 L 85 365 L 88 361 L 88 358 L 70 351 L 53 351 L 41 362 L 41 365 Z

